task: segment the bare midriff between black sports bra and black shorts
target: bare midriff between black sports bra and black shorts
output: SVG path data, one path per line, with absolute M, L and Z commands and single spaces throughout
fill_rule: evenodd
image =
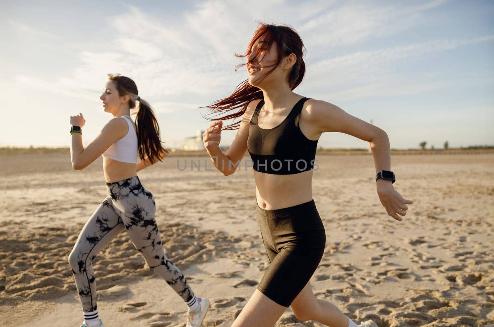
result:
M 266 210 L 291 207 L 312 200 L 313 171 L 274 175 L 254 171 L 257 204 Z

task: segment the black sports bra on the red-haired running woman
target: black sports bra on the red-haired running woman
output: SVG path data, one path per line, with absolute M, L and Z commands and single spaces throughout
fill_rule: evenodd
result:
M 290 175 L 314 168 L 318 140 L 309 140 L 295 125 L 295 119 L 309 98 L 300 99 L 280 125 L 263 129 L 257 124 L 264 100 L 255 108 L 249 123 L 247 150 L 255 171 Z

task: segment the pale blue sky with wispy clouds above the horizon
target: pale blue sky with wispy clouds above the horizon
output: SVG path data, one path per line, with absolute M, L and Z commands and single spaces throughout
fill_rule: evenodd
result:
M 258 21 L 302 38 L 296 93 L 372 120 L 391 148 L 493 145 L 492 17 L 493 0 L 2 0 L 0 146 L 69 146 L 79 112 L 88 144 L 112 118 L 99 99 L 107 74 L 120 73 L 156 110 L 165 147 L 178 147 L 209 126 L 200 106 L 247 79 L 234 54 Z M 369 147 L 342 133 L 319 145 Z

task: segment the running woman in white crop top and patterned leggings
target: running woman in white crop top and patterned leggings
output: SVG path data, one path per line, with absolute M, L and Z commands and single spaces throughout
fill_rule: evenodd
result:
M 137 172 L 168 154 L 162 146 L 160 128 L 151 105 L 137 92 L 128 77 L 109 74 L 100 99 L 113 115 L 101 133 L 86 148 L 82 146 L 82 113 L 70 117 L 71 157 L 74 169 L 83 169 L 103 156 L 108 196 L 82 228 L 69 255 L 76 280 L 84 322 L 81 327 L 103 327 L 96 305 L 96 281 L 92 261 L 123 230 L 144 257 L 151 271 L 163 278 L 188 306 L 186 327 L 202 325 L 209 301 L 197 297 L 182 272 L 166 257 L 155 220 L 155 200 L 145 189 Z M 130 109 L 139 102 L 135 124 Z

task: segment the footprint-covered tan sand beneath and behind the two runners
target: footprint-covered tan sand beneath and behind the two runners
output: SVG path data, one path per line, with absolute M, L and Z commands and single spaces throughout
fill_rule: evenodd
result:
M 317 159 L 313 194 L 327 234 L 311 279 L 317 298 L 379 327 L 494 324 L 494 154 L 393 155 L 393 186 L 415 202 L 402 222 L 379 202 L 371 155 Z M 203 326 L 227 327 L 269 262 L 251 168 L 224 177 L 205 160 L 168 157 L 139 178 L 155 196 L 166 254 L 211 301 Z M 0 156 L 0 326 L 80 326 L 68 254 L 106 195 L 101 165 L 73 171 L 65 154 Z M 181 298 L 125 231 L 93 266 L 106 327 L 185 326 Z M 276 326 L 323 325 L 288 308 Z

